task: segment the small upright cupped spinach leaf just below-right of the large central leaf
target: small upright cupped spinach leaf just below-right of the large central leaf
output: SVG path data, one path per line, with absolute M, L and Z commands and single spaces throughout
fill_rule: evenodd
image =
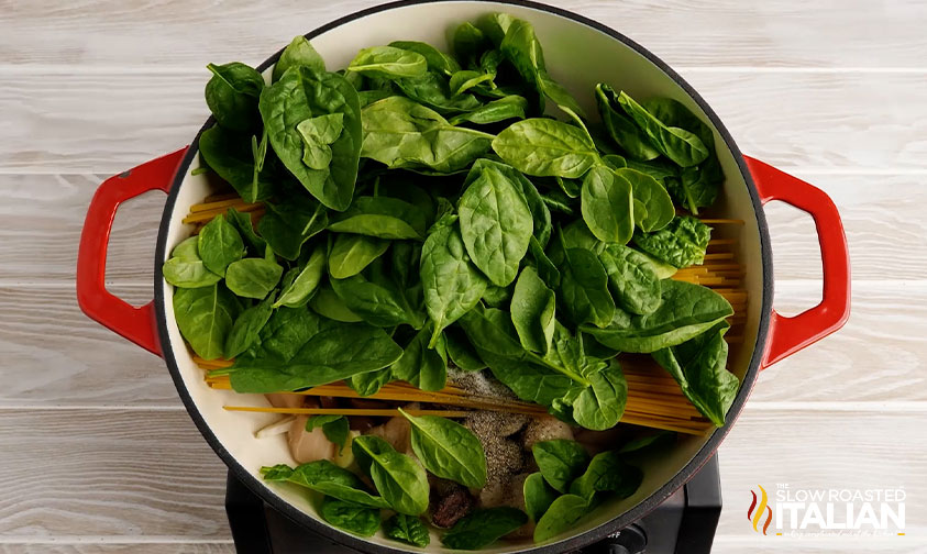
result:
M 526 267 L 515 284 L 511 297 L 511 322 L 525 350 L 544 354 L 551 347 L 556 301 L 553 290 Z

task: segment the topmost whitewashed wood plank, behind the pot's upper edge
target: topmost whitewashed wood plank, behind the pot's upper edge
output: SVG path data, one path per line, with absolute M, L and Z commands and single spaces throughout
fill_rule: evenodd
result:
M 157 0 L 14 2 L 0 43 L 5 64 L 201 67 L 205 59 L 264 59 L 295 34 L 376 0 L 221 3 Z M 917 0 L 551 1 L 609 25 L 673 65 L 925 68 L 927 8 Z M 286 14 L 286 16 L 282 16 Z M 144 36 L 144 40 L 140 37 Z M 234 41 L 227 40 L 234 36 Z

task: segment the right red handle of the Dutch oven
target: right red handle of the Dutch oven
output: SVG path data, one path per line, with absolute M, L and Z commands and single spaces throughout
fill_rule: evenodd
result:
M 770 339 L 761 364 L 765 368 L 824 339 L 847 322 L 850 317 L 850 255 L 843 223 L 830 197 L 769 164 L 749 156 L 744 158 L 761 202 L 782 200 L 815 220 L 824 269 L 820 303 L 792 318 L 773 310 Z

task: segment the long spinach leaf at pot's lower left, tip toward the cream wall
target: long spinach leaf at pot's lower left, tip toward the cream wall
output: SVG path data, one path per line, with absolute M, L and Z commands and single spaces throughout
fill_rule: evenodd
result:
M 339 418 L 344 419 L 343 416 Z M 311 421 L 311 420 L 310 420 Z M 323 495 L 366 508 L 388 508 L 389 505 L 366 491 L 364 481 L 343 467 L 328 459 L 318 459 L 291 468 L 286 464 L 262 467 L 261 475 L 268 481 L 289 481 Z

